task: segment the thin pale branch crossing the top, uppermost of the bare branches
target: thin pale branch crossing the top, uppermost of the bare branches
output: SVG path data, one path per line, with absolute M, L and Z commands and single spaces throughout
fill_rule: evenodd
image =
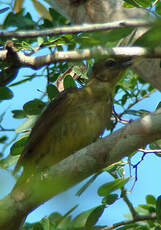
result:
M 15 37 L 15 38 L 29 38 L 29 37 L 43 37 L 53 36 L 60 34 L 75 34 L 82 32 L 92 32 L 101 30 L 119 29 L 124 27 L 150 27 L 155 25 L 154 20 L 138 20 L 138 19 L 127 19 L 121 21 L 114 21 L 109 23 L 95 23 L 95 24 L 83 24 L 75 26 L 63 26 L 45 30 L 27 30 L 27 31 L 1 31 L 0 37 Z

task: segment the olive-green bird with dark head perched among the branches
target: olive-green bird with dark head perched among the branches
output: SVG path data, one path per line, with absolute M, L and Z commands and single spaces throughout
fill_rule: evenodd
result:
M 112 114 L 112 95 L 129 60 L 101 60 L 92 68 L 88 83 L 69 88 L 53 99 L 36 121 L 14 173 L 30 177 L 54 166 L 96 141 Z

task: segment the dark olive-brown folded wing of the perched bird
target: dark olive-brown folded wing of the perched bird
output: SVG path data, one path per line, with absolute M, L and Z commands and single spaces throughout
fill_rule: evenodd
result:
M 66 89 L 50 102 L 33 127 L 17 163 L 15 172 L 23 165 L 24 159 L 29 157 L 30 153 L 32 154 L 34 147 L 40 143 L 43 136 L 47 134 L 46 132 L 54 126 L 54 123 L 61 122 L 61 117 L 75 103 L 73 99 L 77 95 L 78 90 L 77 88 Z

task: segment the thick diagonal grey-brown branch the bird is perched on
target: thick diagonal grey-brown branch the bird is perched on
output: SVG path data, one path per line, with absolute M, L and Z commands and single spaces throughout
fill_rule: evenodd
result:
M 12 192 L 1 200 L 0 229 L 18 229 L 21 220 L 43 202 L 158 139 L 161 139 L 161 109 L 129 123 L 54 167 L 41 173 L 37 172 L 26 183 L 16 185 Z

